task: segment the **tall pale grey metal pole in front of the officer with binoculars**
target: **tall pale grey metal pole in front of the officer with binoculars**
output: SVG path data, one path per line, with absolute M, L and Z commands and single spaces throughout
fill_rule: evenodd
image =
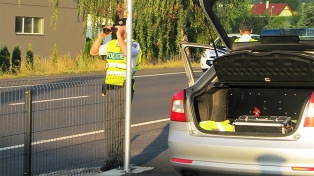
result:
M 131 88 L 132 88 L 132 0 L 127 2 L 127 78 L 126 78 L 126 119 L 124 172 L 131 172 Z

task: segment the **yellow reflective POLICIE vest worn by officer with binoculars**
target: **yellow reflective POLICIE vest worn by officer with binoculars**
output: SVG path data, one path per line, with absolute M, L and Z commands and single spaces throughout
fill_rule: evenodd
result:
M 108 68 L 106 70 L 105 83 L 107 85 L 124 86 L 126 80 L 127 57 L 123 55 L 117 43 L 117 40 L 111 40 L 107 46 Z M 139 69 L 141 62 L 142 50 L 140 50 L 136 65 L 132 68 L 132 78 L 134 78 L 134 74 Z

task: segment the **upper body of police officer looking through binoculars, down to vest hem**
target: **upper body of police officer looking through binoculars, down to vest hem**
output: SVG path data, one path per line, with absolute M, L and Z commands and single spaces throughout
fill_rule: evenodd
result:
M 127 44 L 126 44 L 126 21 L 127 18 L 119 19 L 113 26 L 106 26 L 96 41 L 93 43 L 90 54 L 93 56 L 107 56 L 106 85 L 124 86 L 126 80 L 126 63 L 127 63 Z M 105 29 L 109 31 L 105 33 Z M 104 37 L 116 32 L 117 39 L 111 40 L 101 45 Z M 132 41 L 132 77 L 134 83 L 134 74 L 139 69 L 142 62 L 142 50 L 140 44 Z M 134 94 L 134 84 L 132 87 L 132 97 Z

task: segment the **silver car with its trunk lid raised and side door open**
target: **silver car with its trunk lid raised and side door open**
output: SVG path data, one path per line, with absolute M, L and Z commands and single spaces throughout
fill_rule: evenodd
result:
M 200 0 L 228 51 L 200 78 L 187 48 L 212 47 L 181 43 L 189 87 L 172 97 L 170 164 L 182 176 L 314 176 L 314 33 L 234 43 L 225 19 L 237 2 Z

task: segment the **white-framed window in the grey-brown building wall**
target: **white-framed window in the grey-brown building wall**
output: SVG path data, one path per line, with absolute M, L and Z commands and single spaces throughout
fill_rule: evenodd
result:
M 43 34 L 43 18 L 15 17 L 16 34 Z

